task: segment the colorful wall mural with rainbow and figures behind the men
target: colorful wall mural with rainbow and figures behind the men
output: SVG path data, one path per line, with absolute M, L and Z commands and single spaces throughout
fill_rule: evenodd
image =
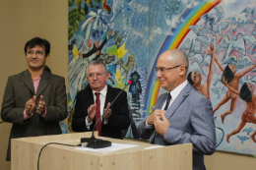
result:
M 256 153 L 256 2 L 253 0 L 68 0 L 69 129 L 86 68 L 101 60 L 108 85 L 128 93 L 131 126 L 137 126 L 165 92 L 156 79 L 160 54 L 181 49 L 188 80 L 212 102 L 217 149 Z M 200 88 L 202 87 L 202 88 Z

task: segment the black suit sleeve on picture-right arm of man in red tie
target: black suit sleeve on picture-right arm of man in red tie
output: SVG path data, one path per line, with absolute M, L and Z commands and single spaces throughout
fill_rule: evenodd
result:
M 118 100 L 118 99 L 117 99 Z M 115 109 L 111 109 L 112 113 L 109 117 L 107 125 L 112 126 L 116 129 L 124 130 L 127 129 L 130 125 L 129 118 L 129 109 L 128 109 L 128 101 L 127 101 L 127 93 L 123 91 L 120 95 L 120 102 L 116 103 Z M 114 111 L 117 113 L 114 113 Z

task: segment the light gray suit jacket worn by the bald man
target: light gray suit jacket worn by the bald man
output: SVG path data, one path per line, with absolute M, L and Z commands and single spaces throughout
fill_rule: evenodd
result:
M 155 109 L 161 109 L 167 94 L 161 94 Z M 204 154 L 213 154 L 216 149 L 216 132 L 213 108 L 210 100 L 187 84 L 165 112 L 170 126 L 164 136 L 156 133 L 155 143 L 172 145 L 193 143 L 193 170 L 203 170 Z M 155 128 L 146 127 L 147 118 L 139 125 L 139 135 L 152 143 Z

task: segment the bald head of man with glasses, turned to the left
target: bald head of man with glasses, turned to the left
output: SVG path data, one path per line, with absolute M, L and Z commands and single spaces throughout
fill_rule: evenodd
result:
M 188 70 L 187 57 L 179 49 L 165 51 L 160 55 L 157 70 L 157 78 L 160 80 L 160 86 L 171 91 L 186 81 Z

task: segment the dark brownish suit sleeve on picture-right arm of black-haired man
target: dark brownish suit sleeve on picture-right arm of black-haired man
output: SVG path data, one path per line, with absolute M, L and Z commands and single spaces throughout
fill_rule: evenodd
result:
M 67 94 L 66 94 L 66 85 L 65 79 L 61 78 L 58 84 L 55 87 L 54 94 L 54 105 L 46 105 L 46 116 L 43 121 L 47 122 L 58 122 L 67 118 Z

